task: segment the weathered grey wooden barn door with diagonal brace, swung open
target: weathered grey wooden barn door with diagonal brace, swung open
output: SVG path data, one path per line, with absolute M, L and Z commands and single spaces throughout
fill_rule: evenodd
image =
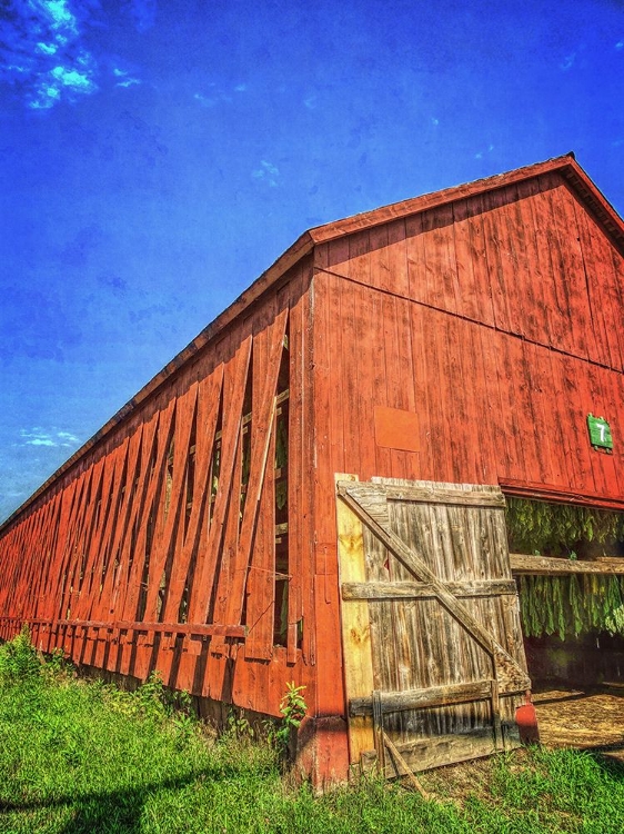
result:
M 516 746 L 531 685 L 494 486 L 336 476 L 353 764 L 386 775 Z

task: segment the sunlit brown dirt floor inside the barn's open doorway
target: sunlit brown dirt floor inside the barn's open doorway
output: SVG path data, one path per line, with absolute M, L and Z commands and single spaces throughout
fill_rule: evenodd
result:
M 540 741 L 546 747 L 578 747 L 624 761 L 624 684 L 547 689 L 533 694 Z

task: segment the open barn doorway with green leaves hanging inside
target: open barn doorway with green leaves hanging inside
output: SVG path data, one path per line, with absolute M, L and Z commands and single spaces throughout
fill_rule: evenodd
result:
M 624 513 L 512 497 L 506 524 L 542 741 L 622 747 Z

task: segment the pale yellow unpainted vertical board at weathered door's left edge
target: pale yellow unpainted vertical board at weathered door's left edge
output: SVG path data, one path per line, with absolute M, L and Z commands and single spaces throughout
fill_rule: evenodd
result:
M 358 480 L 356 475 L 335 475 L 339 480 Z M 364 537 L 362 523 L 336 495 L 338 557 L 340 583 L 365 582 Z M 373 657 L 369 603 L 364 599 L 341 600 L 342 657 L 348 701 L 371 697 Z M 349 716 L 349 708 L 346 709 Z M 362 753 L 374 749 L 373 721 L 370 715 L 349 717 L 349 757 L 358 763 Z

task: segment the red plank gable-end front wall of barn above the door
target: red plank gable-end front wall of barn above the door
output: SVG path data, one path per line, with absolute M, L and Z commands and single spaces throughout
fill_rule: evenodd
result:
M 557 175 L 318 247 L 325 675 L 340 675 L 334 473 L 622 500 L 623 277 L 621 252 Z M 405 450 L 405 429 L 378 441 L 380 407 L 415 415 L 417 450 Z M 591 448 L 588 413 L 611 423 L 613 455 Z

